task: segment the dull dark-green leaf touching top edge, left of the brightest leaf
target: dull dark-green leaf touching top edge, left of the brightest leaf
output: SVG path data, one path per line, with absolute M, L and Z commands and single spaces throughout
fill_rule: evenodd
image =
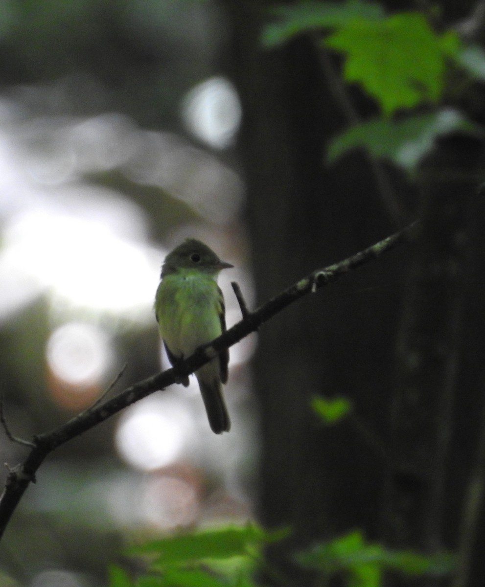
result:
M 369 21 L 384 18 L 380 4 L 350 0 L 349 2 L 302 2 L 288 6 L 275 6 L 271 14 L 277 21 L 271 22 L 262 32 L 262 44 L 267 47 L 281 45 L 295 35 L 315 29 L 343 25 L 353 19 Z

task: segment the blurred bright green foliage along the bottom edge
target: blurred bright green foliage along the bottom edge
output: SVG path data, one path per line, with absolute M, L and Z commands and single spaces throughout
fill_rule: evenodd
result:
M 287 531 L 266 532 L 255 524 L 247 524 L 150 541 L 127 553 L 142 556 L 146 565 L 144 573 L 132 578 L 113 565 L 109 584 L 110 587 L 257 587 L 254 576 L 261 568 L 264 546 L 287 534 Z M 295 559 L 302 568 L 316 571 L 322 583 L 340 576 L 348 587 L 380 587 L 386 571 L 409 576 L 447 576 L 454 568 L 451 554 L 423 555 L 388 549 L 366 542 L 360 530 L 314 544 L 296 554 Z M 268 570 L 267 565 L 265 568 Z

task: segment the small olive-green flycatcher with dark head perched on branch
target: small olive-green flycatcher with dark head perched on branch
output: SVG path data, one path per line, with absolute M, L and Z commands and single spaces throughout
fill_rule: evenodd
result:
M 187 238 L 165 258 L 155 296 L 155 315 L 170 363 L 186 359 L 199 346 L 225 332 L 224 296 L 217 285 L 221 269 L 233 267 L 195 238 Z M 195 373 L 211 429 L 229 431 L 221 383 L 227 382 L 229 351 Z M 188 377 L 181 383 L 188 386 Z

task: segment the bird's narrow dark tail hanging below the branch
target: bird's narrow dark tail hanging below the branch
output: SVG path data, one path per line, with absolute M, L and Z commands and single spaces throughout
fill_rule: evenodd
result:
M 231 420 L 225 407 L 218 360 L 214 359 L 201 367 L 196 377 L 212 431 L 215 434 L 228 432 Z

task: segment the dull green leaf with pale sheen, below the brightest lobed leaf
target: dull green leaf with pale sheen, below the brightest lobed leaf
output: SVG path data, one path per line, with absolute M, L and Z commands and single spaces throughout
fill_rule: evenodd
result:
M 363 147 L 373 157 L 386 158 L 412 172 L 432 149 L 436 137 L 458 130 L 481 133 L 479 127 L 453 109 L 410 116 L 398 122 L 374 119 L 352 126 L 335 137 L 329 144 L 327 160 L 333 163 L 346 151 Z

